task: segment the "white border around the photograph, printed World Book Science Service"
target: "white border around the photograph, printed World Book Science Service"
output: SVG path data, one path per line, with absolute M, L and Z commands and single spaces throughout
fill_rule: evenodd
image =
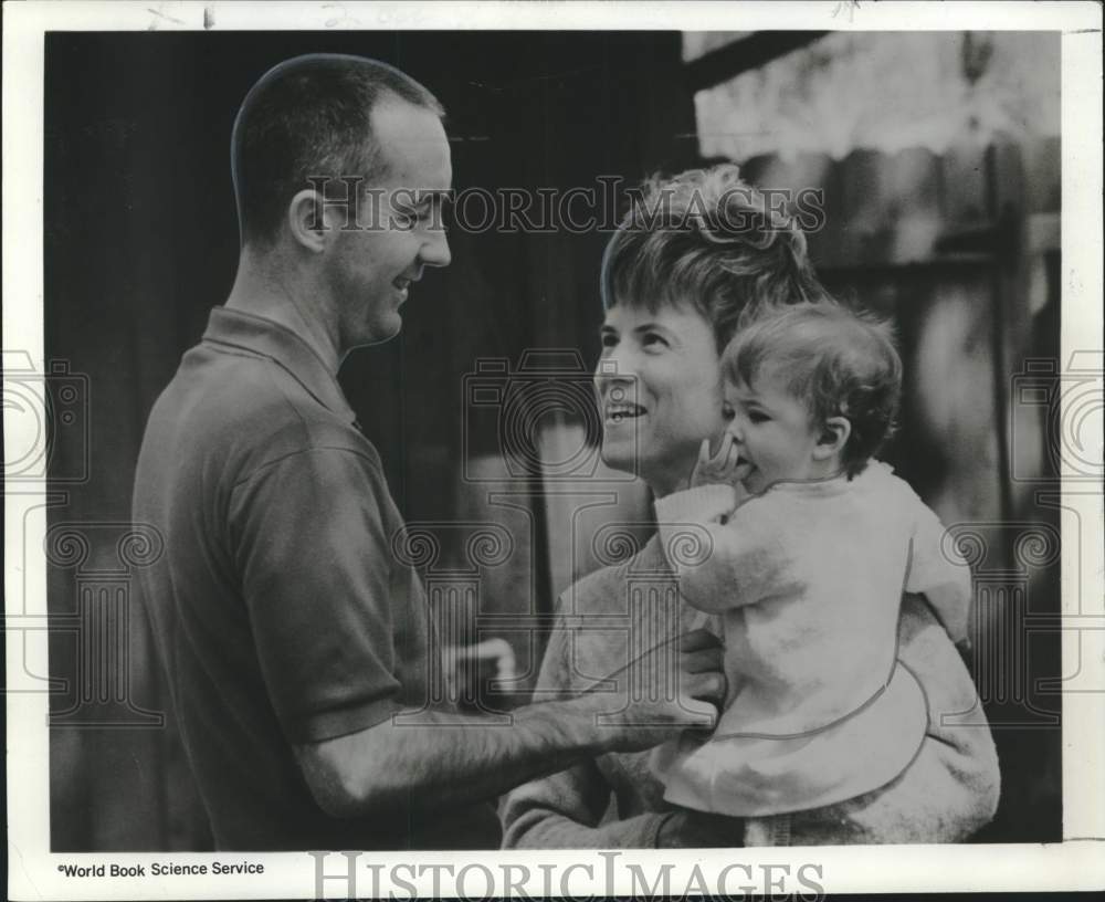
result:
M 570 7 L 570 11 L 568 10 Z M 1062 32 L 1062 357 L 1096 360 L 1087 345 L 1103 332 L 1102 240 L 1102 10 L 1092 2 L 899 3 L 90 3 L 28 2 L 4 7 L 3 31 L 3 348 L 43 361 L 43 35 L 66 31 L 262 31 L 262 30 L 672 30 L 748 31 L 808 29 L 841 31 L 1055 30 Z M 1081 356 L 1080 356 L 1081 355 Z M 7 382 L 6 371 L 6 382 Z M 1101 374 L 1098 369 L 1098 385 Z M 4 418 L 6 447 L 23 447 L 27 436 Z M 1098 448 L 1098 454 L 1101 449 Z M 361 895 L 457 895 L 453 872 L 478 862 L 503 895 L 509 883 L 503 866 L 527 866 L 530 896 L 573 898 L 631 893 L 632 866 L 653 874 L 671 863 L 673 893 L 729 895 L 756 882 L 757 892 L 866 893 L 1088 890 L 1105 887 L 1105 591 L 1099 483 L 1072 482 L 1064 462 L 1062 536 L 1080 541 L 1063 555 L 1063 673 L 1077 678 L 1077 692 L 1063 693 L 1063 841 L 976 846 L 887 846 L 748 848 L 732 850 L 497 851 L 362 853 L 52 853 L 49 829 L 49 695 L 20 691 L 27 674 L 45 673 L 48 492 L 43 481 L 4 486 L 4 580 L 8 724 L 8 861 L 12 899 L 309 899 L 337 894 L 357 868 Z M 1081 523 L 1081 528 L 1078 524 Z M 19 628 L 13 628 L 19 618 Z M 32 628 L 38 623 L 39 626 Z M 65 863 L 120 867 L 214 861 L 260 862 L 263 874 L 112 880 L 66 878 Z M 394 880 L 396 867 L 410 868 Z M 419 872 L 425 866 L 429 870 Z M 486 867 L 486 866 L 490 866 Z M 552 870 L 544 871 L 543 866 Z M 728 883 L 723 877 L 729 869 Z M 734 869 L 737 870 L 734 870 Z M 806 869 L 804 871 L 802 869 Z M 755 874 L 748 880 L 745 869 Z M 815 870 L 811 870 L 815 869 Z M 210 871 L 210 868 L 209 868 Z M 513 872 L 515 878 L 518 871 Z M 697 875 L 696 875 L 697 874 Z M 375 875 L 375 878 L 373 878 Z M 373 883 L 375 879 L 375 883 Z M 469 893 L 485 887 L 482 871 Z M 546 882 L 543 883 L 543 880 Z M 567 882 L 564 882 L 566 881 Z M 719 882 L 719 880 L 722 882 Z M 440 882 L 439 882 L 440 881 Z M 505 881 L 505 882 L 501 882 Z M 698 883 L 696 881 L 705 881 Z M 781 881 L 781 882 L 780 882 Z M 765 889 L 766 884 L 766 889 Z M 727 892 L 727 888 L 729 891 Z M 488 884 L 488 889 L 492 889 Z M 436 890 L 436 893 L 434 893 Z M 567 892 L 565 892 L 567 890 Z M 357 895 L 349 892 L 348 895 Z M 377 894 L 377 893 L 372 893 Z M 519 893 L 520 894 L 520 893 Z

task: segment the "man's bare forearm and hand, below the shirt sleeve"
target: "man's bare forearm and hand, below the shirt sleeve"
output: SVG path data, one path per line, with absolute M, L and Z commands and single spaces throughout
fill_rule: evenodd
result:
M 671 657 L 660 648 L 612 675 L 619 691 L 528 705 L 512 712 L 509 724 L 473 715 L 457 725 L 456 714 L 422 712 L 417 724 L 389 719 L 298 745 L 296 755 L 316 801 L 334 817 L 493 798 L 606 752 L 650 748 L 715 717 L 725 694 L 717 639 L 696 630 L 678 641 L 676 698 L 663 698 Z M 629 699 L 631 684 L 644 701 Z

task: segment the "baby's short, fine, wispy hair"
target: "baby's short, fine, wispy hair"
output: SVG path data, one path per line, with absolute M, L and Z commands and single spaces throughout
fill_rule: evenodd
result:
M 902 358 L 888 323 L 840 304 L 797 304 L 766 310 L 744 325 L 722 357 L 730 382 L 753 386 L 757 376 L 782 379 L 820 429 L 846 417 L 852 432 L 841 452 L 854 476 L 894 430 L 902 394 Z

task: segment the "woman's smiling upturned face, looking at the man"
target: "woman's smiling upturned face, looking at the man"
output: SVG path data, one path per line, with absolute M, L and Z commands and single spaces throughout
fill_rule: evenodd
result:
M 602 460 L 657 496 L 685 489 L 702 440 L 725 429 L 714 329 L 690 304 L 611 307 L 594 386 Z

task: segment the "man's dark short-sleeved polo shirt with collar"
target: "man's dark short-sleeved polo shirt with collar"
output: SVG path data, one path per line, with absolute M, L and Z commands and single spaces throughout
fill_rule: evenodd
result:
M 435 654 L 418 576 L 392 552 L 402 521 L 354 422 L 297 335 L 217 307 L 146 427 L 134 518 L 165 554 L 141 596 L 215 843 L 497 848 L 486 804 L 329 818 L 296 764 L 293 744 L 423 706 Z

